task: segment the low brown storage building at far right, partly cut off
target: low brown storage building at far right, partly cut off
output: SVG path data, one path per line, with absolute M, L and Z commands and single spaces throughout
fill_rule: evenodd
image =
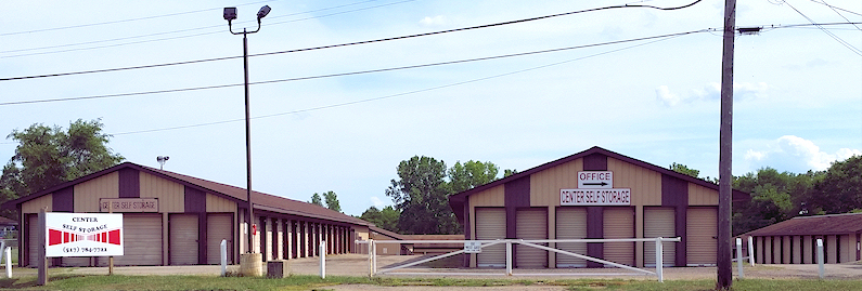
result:
M 760 264 L 816 264 L 816 239 L 823 239 L 824 263 L 862 260 L 862 213 L 798 216 L 742 237 L 754 237 Z

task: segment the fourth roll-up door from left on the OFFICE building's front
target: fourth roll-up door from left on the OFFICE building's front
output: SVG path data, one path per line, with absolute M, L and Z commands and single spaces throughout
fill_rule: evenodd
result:
M 630 207 L 604 209 L 604 238 L 634 238 L 634 211 Z M 605 242 L 604 260 L 617 264 L 634 265 L 634 242 Z

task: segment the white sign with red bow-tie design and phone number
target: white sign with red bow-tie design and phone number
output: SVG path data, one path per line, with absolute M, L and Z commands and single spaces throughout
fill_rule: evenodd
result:
M 46 213 L 46 256 L 123 255 L 123 214 Z

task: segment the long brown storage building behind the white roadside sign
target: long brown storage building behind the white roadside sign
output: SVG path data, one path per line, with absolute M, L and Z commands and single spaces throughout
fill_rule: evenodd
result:
M 254 249 L 265 261 L 352 253 L 355 239 L 368 239 L 373 224 L 311 203 L 252 193 L 257 235 Z M 36 266 L 37 215 L 48 212 L 124 214 L 125 248 L 115 265 L 218 264 L 228 241 L 228 263 L 246 252 L 246 189 L 131 162 L 9 201 L 18 210 L 18 265 Z M 237 243 L 239 242 L 239 243 Z M 107 257 L 63 257 L 60 266 L 101 266 Z

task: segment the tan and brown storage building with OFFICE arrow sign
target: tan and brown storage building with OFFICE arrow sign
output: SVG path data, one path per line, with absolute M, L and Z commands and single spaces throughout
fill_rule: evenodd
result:
M 604 200 L 602 200 L 604 199 Z M 734 190 L 734 201 L 750 199 Z M 681 237 L 665 242 L 664 265 L 716 264 L 718 185 L 601 147 L 449 197 L 465 239 Z M 655 266 L 654 242 L 559 242 L 552 248 L 630 266 Z M 516 246 L 515 267 L 600 267 Z M 472 267 L 505 266 L 505 246 L 484 248 Z

